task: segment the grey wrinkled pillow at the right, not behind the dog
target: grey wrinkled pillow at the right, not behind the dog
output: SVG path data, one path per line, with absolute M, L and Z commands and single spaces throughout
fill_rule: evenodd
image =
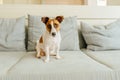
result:
M 82 22 L 81 27 L 87 49 L 120 49 L 120 19 L 104 26 L 93 26 Z

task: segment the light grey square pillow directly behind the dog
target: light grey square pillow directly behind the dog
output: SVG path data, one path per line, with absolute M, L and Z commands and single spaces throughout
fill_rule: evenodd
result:
M 45 31 L 45 25 L 40 16 L 28 16 L 28 51 L 35 50 L 36 41 Z M 79 39 L 76 17 L 65 18 L 61 23 L 60 50 L 79 50 Z

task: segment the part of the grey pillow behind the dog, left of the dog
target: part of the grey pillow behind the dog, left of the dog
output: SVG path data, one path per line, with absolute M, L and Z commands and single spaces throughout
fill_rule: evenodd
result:
M 35 50 L 36 41 L 45 31 L 45 25 L 40 16 L 28 15 L 28 51 Z

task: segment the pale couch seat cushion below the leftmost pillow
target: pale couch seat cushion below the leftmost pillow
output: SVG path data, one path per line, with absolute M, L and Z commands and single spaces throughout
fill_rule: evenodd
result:
M 26 52 L 0 52 L 0 76 L 6 74 L 25 53 Z

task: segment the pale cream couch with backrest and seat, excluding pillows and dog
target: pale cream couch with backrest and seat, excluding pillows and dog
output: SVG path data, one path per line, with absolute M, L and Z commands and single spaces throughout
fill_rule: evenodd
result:
M 0 18 L 2 19 L 25 16 L 24 22 L 28 26 L 28 14 L 50 17 L 76 16 L 76 31 L 79 35 L 74 36 L 79 38 L 79 43 L 77 43 L 79 50 L 62 49 L 60 50 L 62 59 L 56 60 L 52 56 L 50 62 L 45 63 L 43 59 L 35 57 L 35 50 L 26 50 L 29 46 L 27 43 L 29 39 L 26 39 L 25 45 L 19 45 L 17 41 L 14 44 L 17 45 L 16 47 L 0 51 L 0 80 L 120 80 L 119 48 L 90 50 L 87 48 L 86 38 L 81 33 L 81 22 L 92 25 L 106 25 L 114 22 L 120 16 L 119 6 L 0 5 Z M 21 30 L 18 31 L 21 32 Z M 30 36 L 28 32 L 29 30 L 26 29 L 25 37 Z M 19 35 L 14 34 L 14 36 Z M 20 46 L 26 46 L 25 50 L 19 48 Z

